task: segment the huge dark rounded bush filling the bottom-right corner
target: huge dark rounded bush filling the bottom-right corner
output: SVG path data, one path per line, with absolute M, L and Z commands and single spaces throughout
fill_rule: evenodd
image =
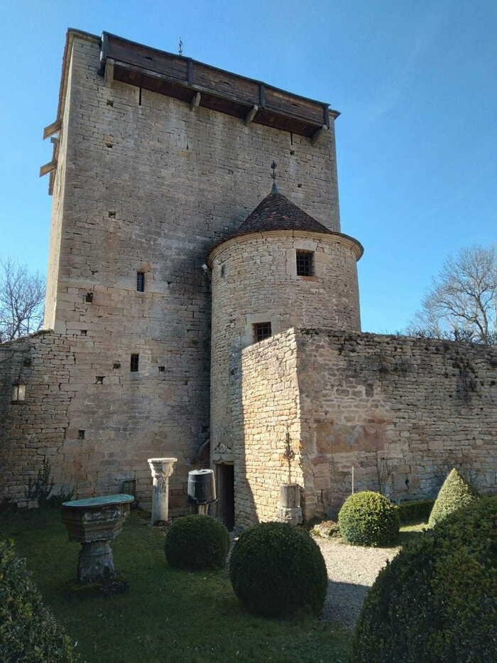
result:
M 496 660 L 496 552 L 497 496 L 406 545 L 366 596 L 354 662 Z

